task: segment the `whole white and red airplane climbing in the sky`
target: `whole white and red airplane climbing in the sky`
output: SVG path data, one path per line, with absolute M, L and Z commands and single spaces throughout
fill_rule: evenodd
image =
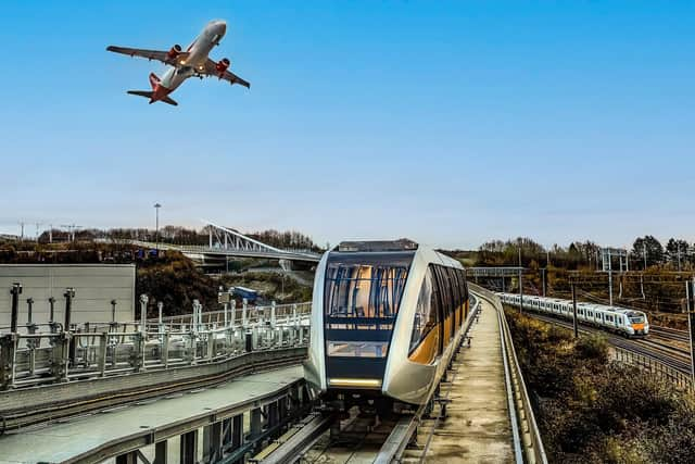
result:
M 163 101 L 164 103 L 176 106 L 178 103 L 169 97 L 169 93 L 176 90 L 176 88 L 189 77 L 200 77 L 202 79 L 203 77 L 215 76 L 232 85 L 239 84 L 245 88 L 251 88 L 251 84 L 227 71 L 231 64 L 227 58 L 215 62 L 207 57 L 213 47 L 219 45 L 226 32 L 227 23 L 222 20 L 213 20 L 205 25 L 203 32 L 193 40 L 186 51 L 181 51 L 181 46 L 178 43 L 168 51 L 115 46 L 109 46 L 106 50 L 130 57 L 147 58 L 149 61 L 156 60 L 172 66 L 161 79 L 156 74 L 150 73 L 151 91 L 128 90 L 128 93 L 149 98 L 150 104 L 155 101 Z

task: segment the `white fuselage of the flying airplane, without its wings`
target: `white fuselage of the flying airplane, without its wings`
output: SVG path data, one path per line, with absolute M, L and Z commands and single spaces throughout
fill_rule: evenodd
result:
M 162 80 L 154 88 L 152 101 L 157 101 L 176 90 L 186 79 L 195 75 L 197 71 L 205 68 L 207 55 L 227 32 L 227 23 L 222 20 L 211 21 L 203 32 L 188 47 L 188 57 L 181 59 L 178 67 L 169 67 L 162 76 Z

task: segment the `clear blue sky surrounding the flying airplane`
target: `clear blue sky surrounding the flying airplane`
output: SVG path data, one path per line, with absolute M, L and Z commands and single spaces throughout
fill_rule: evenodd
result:
M 164 66 L 108 45 L 211 18 L 250 91 L 125 93 Z M 331 243 L 695 241 L 693 24 L 677 1 L 5 2 L 0 230 L 153 226 L 161 202 Z

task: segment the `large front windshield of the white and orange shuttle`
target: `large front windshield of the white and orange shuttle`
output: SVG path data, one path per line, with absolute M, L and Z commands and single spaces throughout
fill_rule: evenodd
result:
M 324 287 L 329 356 L 386 358 L 413 256 L 331 253 Z

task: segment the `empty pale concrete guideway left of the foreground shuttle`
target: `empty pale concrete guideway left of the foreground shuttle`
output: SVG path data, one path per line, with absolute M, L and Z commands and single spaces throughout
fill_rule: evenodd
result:
M 212 430 L 212 434 L 218 435 L 212 442 L 216 440 L 217 447 L 222 447 L 225 441 L 225 422 L 235 419 L 235 423 L 243 427 L 241 415 L 250 413 L 251 417 L 247 422 L 251 424 L 251 434 L 260 432 L 262 414 L 273 415 L 262 407 L 266 404 L 277 405 L 287 398 L 296 400 L 298 396 L 302 397 L 300 390 L 303 385 L 302 367 L 293 365 L 239 377 L 217 388 L 164 397 L 153 402 L 77 417 L 67 423 L 25 429 L 20 434 L 0 437 L 0 463 L 100 462 L 179 436 L 179 462 L 198 462 L 199 428 L 213 427 L 204 429 L 203 441 L 208 441 L 206 437 L 211 436 Z M 282 414 L 279 413 L 280 416 Z M 275 415 L 278 415 L 277 411 Z M 253 430 L 254 427 L 256 430 Z M 236 444 L 242 446 L 243 434 L 239 434 L 236 440 L 241 440 Z M 166 449 L 166 442 L 164 443 L 161 448 Z M 188 449 L 185 450 L 187 444 Z M 205 453 L 203 451 L 203 459 Z M 193 461 L 189 461 L 189 457 Z M 210 451 L 207 457 L 210 459 Z M 170 461 L 175 460 L 165 457 L 164 461 L 156 462 Z

